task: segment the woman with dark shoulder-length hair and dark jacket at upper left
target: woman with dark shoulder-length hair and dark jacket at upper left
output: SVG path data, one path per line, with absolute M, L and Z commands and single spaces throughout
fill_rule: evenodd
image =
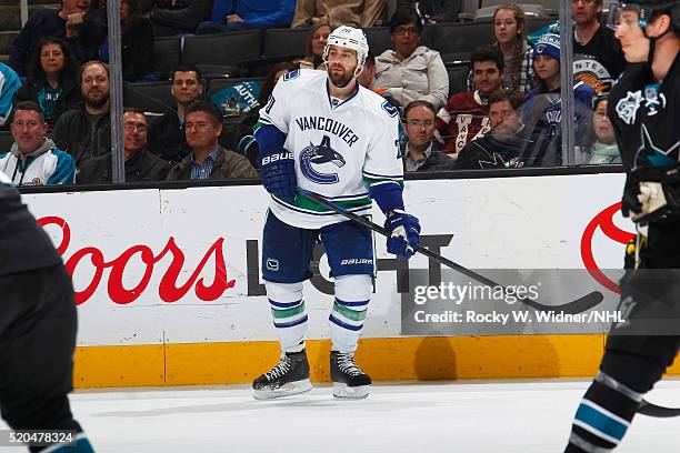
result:
M 29 78 L 17 92 L 17 102 L 37 102 L 48 124 L 81 101 L 78 63 L 69 47 L 58 38 L 43 38 L 29 68 Z

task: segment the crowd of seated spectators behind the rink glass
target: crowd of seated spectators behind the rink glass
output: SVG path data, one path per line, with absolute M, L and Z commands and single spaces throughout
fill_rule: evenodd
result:
M 603 1 L 571 3 L 574 52 L 596 60 L 604 74 L 573 81 L 577 163 L 618 163 L 607 89 L 626 63 L 602 24 Z M 208 95 L 200 64 L 170 71 L 171 110 L 149 114 L 126 105 L 117 119 L 126 181 L 258 178 L 259 108 L 286 73 L 324 70 L 327 38 L 340 24 L 389 27 L 391 48 L 369 54 L 358 80 L 400 112 L 406 171 L 560 165 L 559 30 L 547 27 L 528 39 L 522 8 L 499 6 L 490 24 L 493 39 L 467 56 L 467 91 L 456 92 L 444 59 L 422 38 L 432 24 L 457 21 L 460 8 L 460 0 L 400 0 L 388 20 L 387 0 L 122 0 L 124 83 L 162 77 L 152 67 L 158 37 L 266 28 L 309 32 L 299 58 L 262 62 L 259 73 L 267 76 L 257 103 L 237 109 L 238 121 L 229 102 Z M 62 0 L 59 10 L 30 16 L 9 61 L 0 63 L 0 130 L 13 139 L 0 148 L 0 171 L 14 184 L 112 181 L 109 52 L 107 0 Z

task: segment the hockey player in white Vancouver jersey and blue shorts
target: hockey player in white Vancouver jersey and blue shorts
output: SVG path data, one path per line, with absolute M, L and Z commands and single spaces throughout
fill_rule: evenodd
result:
M 256 399 L 311 390 L 304 351 L 307 313 L 302 282 L 321 239 L 334 279 L 329 316 L 333 395 L 368 396 L 371 379 L 354 362 L 369 305 L 374 253 L 371 232 L 298 194 L 317 193 L 357 214 L 372 200 L 391 232 L 388 251 L 410 258 L 420 224 L 404 212 L 398 112 L 357 83 L 369 48 L 360 29 L 339 27 L 323 52 L 326 71 L 283 77 L 260 111 L 256 138 L 262 183 L 271 193 L 264 224 L 262 275 L 281 343 L 281 361 L 253 382 Z

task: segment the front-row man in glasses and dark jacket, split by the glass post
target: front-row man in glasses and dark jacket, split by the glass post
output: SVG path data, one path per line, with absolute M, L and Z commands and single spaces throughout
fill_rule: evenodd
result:
M 126 182 L 164 181 L 170 165 L 147 149 L 147 117 L 140 109 L 126 108 L 122 117 Z M 86 161 L 78 172 L 78 183 L 111 182 L 111 153 Z

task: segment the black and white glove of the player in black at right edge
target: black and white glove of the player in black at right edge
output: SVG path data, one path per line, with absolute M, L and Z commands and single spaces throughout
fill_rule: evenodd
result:
M 680 172 L 677 167 L 644 169 L 637 174 L 639 182 L 639 212 L 633 222 L 648 223 L 668 214 L 680 212 Z

